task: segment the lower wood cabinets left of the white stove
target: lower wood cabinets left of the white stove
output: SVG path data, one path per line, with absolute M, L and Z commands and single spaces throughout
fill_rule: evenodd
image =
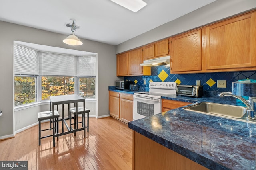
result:
M 109 91 L 109 115 L 128 123 L 133 116 L 133 95 Z

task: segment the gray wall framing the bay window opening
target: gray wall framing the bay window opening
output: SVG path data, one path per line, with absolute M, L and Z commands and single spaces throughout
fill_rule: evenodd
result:
M 98 53 L 98 104 L 95 112 L 98 117 L 108 115 L 108 86 L 114 86 L 116 80 L 115 46 L 81 39 L 84 44 L 74 47 L 62 42 L 67 35 L 3 21 L 0 21 L 0 30 L 0 110 L 3 113 L 0 117 L 0 139 L 12 137 L 15 129 L 26 126 L 18 118 L 28 116 L 20 111 L 16 114 L 16 122 L 14 120 L 13 41 Z M 33 108 L 31 112 L 37 113 L 38 110 Z M 21 126 L 15 128 L 15 124 Z

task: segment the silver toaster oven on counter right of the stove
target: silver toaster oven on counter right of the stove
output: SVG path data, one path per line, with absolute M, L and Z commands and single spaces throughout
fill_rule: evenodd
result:
M 176 95 L 201 97 L 203 96 L 204 86 L 177 85 Z

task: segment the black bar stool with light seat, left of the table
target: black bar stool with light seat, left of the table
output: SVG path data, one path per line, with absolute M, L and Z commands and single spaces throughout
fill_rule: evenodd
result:
M 42 111 L 42 112 L 38 112 L 38 118 L 37 118 L 37 120 L 38 120 L 38 134 L 39 134 L 39 136 L 38 136 L 38 139 L 39 139 L 39 145 L 41 145 L 41 139 L 43 139 L 43 138 L 46 138 L 46 137 L 51 137 L 51 136 L 53 136 L 53 133 L 59 133 L 59 123 L 58 123 L 58 119 L 59 119 L 59 117 L 60 117 L 60 114 L 58 113 L 58 111 L 54 111 L 54 117 L 52 116 L 52 111 Z M 54 119 L 55 120 L 55 129 L 53 129 L 53 127 L 51 127 L 50 126 L 50 128 L 48 128 L 48 129 L 41 129 L 41 121 L 43 121 L 43 120 L 50 120 L 50 124 L 52 123 L 52 121 L 51 121 L 51 119 Z M 44 137 L 41 137 L 41 132 L 42 131 L 46 131 L 46 130 L 52 130 L 53 129 L 53 131 L 52 131 L 52 135 L 47 135 L 47 136 L 44 136 Z M 57 140 L 58 140 L 58 137 L 57 137 Z

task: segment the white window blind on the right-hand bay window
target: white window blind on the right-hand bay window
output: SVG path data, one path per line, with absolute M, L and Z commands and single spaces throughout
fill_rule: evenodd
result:
M 77 76 L 96 77 L 96 56 L 79 56 Z

